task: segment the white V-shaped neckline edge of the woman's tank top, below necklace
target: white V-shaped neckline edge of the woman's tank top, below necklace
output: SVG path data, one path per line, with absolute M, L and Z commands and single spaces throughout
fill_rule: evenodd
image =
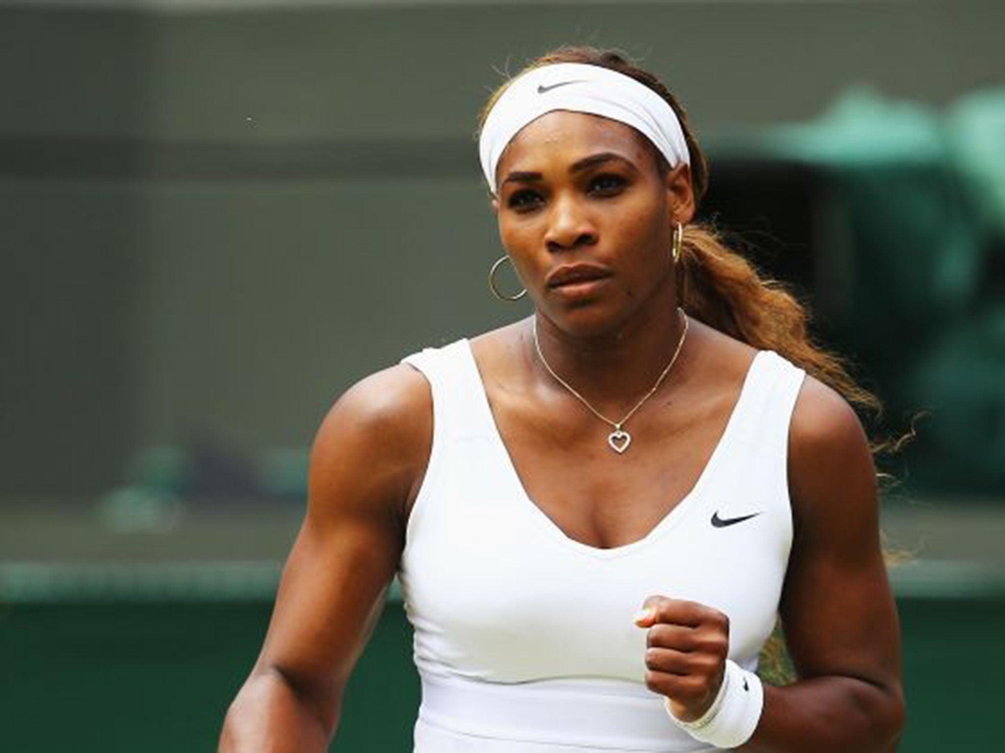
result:
M 744 375 L 743 385 L 740 388 L 740 395 L 730 412 L 730 418 L 726 422 L 726 428 L 723 430 L 722 435 L 720 435 L 719 440 L 716 442 L 716 447 L 713 449 L 712 455 L 709 457 L 709 460 L 706 462 L 705 467 L 701 469 L 697 480 L 694 482 L 693 486 L 691 486 L 690 490 L 684 494 L 684 496 L 681 497 L 680 500 L 673 505 L 673 507 L 671 507 L 644 536 L 635 539 L 634 541 L 629 541 L 626 544 L 604 548 L 583 543 L 582 541 L 579 541 L 578 539 L 575 539 L 567 534 L 558 523 L 552 520 L 552 518 L 549 517 L 540 506 L 538 506 L 537 502 L 535 502 L 528 493 L 524 480 L 520 477 L 520 473 L 517 471 L 517 465 L 514 463 L 513 455 L 511 455 L 510 449 L 502 440 L 502 434 L 499 432 L 498 424 L 495 422 L 495 415 L 492 413 L 491 404 L 488 401 L 488 393 L 485 390 L 484 381 L 481 379 L 481 372 L 478 370 L 478 363 L 474 358 L 474 351 L 471 349 L 470 340 L 466 338 L 464 339 L 464 347 L 462 349 L 466 354 L 467 364 L 470 368 L 470 376 L 476 383 L 475 387 L 477 389 L 474 392 L 478 396 L 478 410 L 482 411 L 485 424 L 488 427 L 490 440 L 495 446 L 499 456 L 499 462 L 502 466 L 505 466 L 505 474 L 510 485 L 514 489 L 514 496 L 519 498 L 520 508 L 529 514 L 531 519 L 535 521 L 538 527 L 544 531 L 546 535 L 557 541 L 560 545 L 569 547 L 570 549 L 581 554 L 587 554 L 598 559 L 613 559 L 616 557 L 622 557 L 646 546 L 672 528 L 677 521 L 684 517 L 687 510 L 695 504 L 696 500 L 700 498 L 701 491 L 708 484 L 709 478 L 713 475 L 716 466 L 722 462 L 722 457 L 726 454 L 727 448 L 731 443 L 732 435 L 737 431 L 737 425 L 740 423 L 740 419 L 745 412 L 746 405 L 750 401 L 750 393 L 752 392 L 751 385 L 754 382 L 754 374 L 756 373 L 758 367 L 758 361 L 764 353 L 768 352 L 767 350 L 758 350 L 754 355 L 754 358 L 751 360 L 750 365 L 747 368 L 747 373 Z

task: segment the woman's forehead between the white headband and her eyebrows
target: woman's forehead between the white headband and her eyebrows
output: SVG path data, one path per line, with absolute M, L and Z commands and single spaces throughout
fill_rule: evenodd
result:
M 609 117 L 553 110 L 532 120 L 507 145 L 497 175 L 515 169 L 530 170 L 529 162 L 557 158 L 570 163 L 600 152 L 611 152 L 637 163 L 645 158 L 645 137 L 631 126 Z

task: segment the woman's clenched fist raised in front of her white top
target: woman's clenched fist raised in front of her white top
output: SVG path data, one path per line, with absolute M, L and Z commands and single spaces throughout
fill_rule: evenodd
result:
M 645 685 L 666 696 L 670 712 L 693 722 L 712 706 L 723 684 L 730 651 L 730 619 L 694 601 L 649 596 L 635 614 L 648 628 Z

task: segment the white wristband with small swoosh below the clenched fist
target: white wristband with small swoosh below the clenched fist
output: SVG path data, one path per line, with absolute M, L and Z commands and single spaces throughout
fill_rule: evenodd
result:
M 717 748 L 739 748 L 750 740 L 761 720 L 764 686 L 753 672 L 727 659 L 719 694 L 700 719 L 682 722 L 670 711 L 670 699 L 664 704 L 670 720 L 698 742 Z

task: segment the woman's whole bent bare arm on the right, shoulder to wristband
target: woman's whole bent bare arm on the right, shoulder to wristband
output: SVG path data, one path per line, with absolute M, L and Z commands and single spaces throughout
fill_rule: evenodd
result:
M 765 687 L 747 753 L 890 753 L 904 721 L 875 469 L 858 418 L 807 376 L 789 432 L 794 538 L 780 613 L 799 680 Z

